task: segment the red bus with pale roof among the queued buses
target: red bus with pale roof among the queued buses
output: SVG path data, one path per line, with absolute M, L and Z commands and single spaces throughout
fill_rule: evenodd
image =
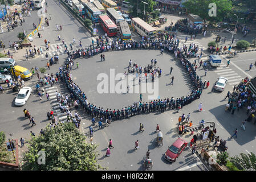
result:
M 108 36 L 115 36 L 117 34 L 117 26 L 106 14 L 99 15 L 101 27 Z

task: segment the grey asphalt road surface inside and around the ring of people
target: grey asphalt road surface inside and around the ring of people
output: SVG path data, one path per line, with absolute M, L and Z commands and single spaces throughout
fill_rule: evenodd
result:
M 54 1 L 49 1 L 48 11 L 53 18 L 50 22 L 50 27 L 44 29 L 44 37 L 49 39 L 50 42 L 54 42 L 60 33 L 60 36 L 67 41 L 72 41 L 72 38 L 75 37 L 76 40 L 81 39 L 83 45 L 91 44 L 90 34 L 86 32 L 86 30 L 84 30 L 70 14 L 67 13 L 64 7 L 57 5 Z M 63 31 L 57 32 L 55 23 L 63 24 Z M 38 38 L 35 39 L 37 39 L 35 41 L 41 41 Z M 57 40 L 55 42 L 59 43 Z M 111 105 L 111 107 L 113 106 L 114 108 L 124 106 L 127 102 L 132 104 L 134 101 L 138 101 L 139 94 L 125 94 L 122 96 L 121 94 L 113 93 L 111 96 L 102 97 L 100 94 L 95 93 L 97 85 L 95 77 L 99 73 L 108 74 L 110 68 L 115 68 L 117 72 L 123 73 L 126 71 L 125 67 L 128 66 L 129 59 L 132 59 L 132 61 L 136 60 L 136 63 L 139 63 L 144 67 L 145 65 L 150 64 L 150 60 L 153 57 L 156 57 L 160 68 L 163 69 L 159 87 L 161 90 L 159 94 L 160 98 L 169 96 L 169 93 L 177 97 L 183 96 L 184 93 L 187 93 L 190 89 L 190 85 L 185 84 L 188 78 L 186 77 L 186 74 L 183 73 L 184 69 L 180 67 L 180 63 L 173 60 L 173 57 L 166 53 L 161 56 L 157 51 L 119 51 L 113 53 L 107 52 L 105 55 L 106 61 L 104 63 L 99 61 L 99 55 L 94 56 L 91 59 L 75 60 L 79 61 L 80 68 L 74 69 L 72 72 L 75 82 L 78 83 L 79 86 L 81 85 L 82 90 L 88 95 L 88 101 L 95 102 L 96 105 Z M 60 55 L 60 64 L 62 64 L 64 57 L 66 56 Z M 153 160 L 153 170 L 204 170 L 204 166 L 202 166 L 201 162 L 195 155 L 190 154 L 191 151 L 188 148 L 182 152 L 181 156 L 173 164 L 167 163 L 162 157 L 168 146 L 170 146 L 170 144 L 172 144 L 178 137 L 177 122 L 178 117 L 182 113 L 186 115 L 190 113 L 191 119 L 195 124 L 201 121 L 201 119 L 216 122 L 217 135 L 220 135 L 220 138 L 229 138 L 237 127 L 238 138 L 229 139 L 227 142 L 230 156 L 237 155 L 241 152 L 246 153 L 252 151 L 255 153 L 255 126 L 253 126 L 253 123 L 246 123 L 246 131 L 241 130 L 239 127 L 243 119 L 247 117 L 245 109 L 235 111 L 234 115 L 226 113 L 224 109 L 227 100 L 225 101 L 223 99 L 228 90 L 233 90 L 233 86 L 236 82 L 246 77 L 245 73 L 253 76 L 253 71 L 246 72 L 246 69 L 248 69 L 250 64 L 250 61 L 246 59 L 253 59 L 253 57 L 255 57 L 255 53 L 240 53 L 238 58 L 231 59 L 231 64 L 228 68 L 226 68 L 226 60 L 224 59 L 224 64 L 222 64 L 221 67 L 218 67 L 217 69 L 209 67 L 209 71 L 206 76 L 204 76 L 204 70 L 202 68 L 198 68 L 198 75 L 202 77 L 202 80 L 209 80 L 210 88 L 203 91 L 200 100 L 196 100 L 192 104 L 183 107 L 183 109 L 180 110 L 180 113 L 170 110 L 162 114 L 151 113 L 137 115 L 122 121 L 112 122 L 109 127 L 95 131 L 94 142 L 99 144 L 98 151 L 100 153 L 100 164 L 103 167 L 108 167 L 108 169 L 112 170 L 140 170 L 141 160 L 147 150 L 150 149 L 151 158 Z M 243 61 L 239 60 L 248 61 L 249 64 L 245 65 Z M 134 62 L 135 61 L 133 61 L 133 63 Z M 241 63 L 241 65 L 239 65 L 239 63 Z M 46 60 L 43 56 L 39 56 L 36 59 L 29 61 L 18 61 L 18 64 L 26 68 L 35 66 L 46 68 Z M 53 65 L 50 71 L 47 70 L 47 73 L 56 73 L 59 65 Z M 168 90 L 169 87 L 166 86 L 165 83 L 168 82 L 167 80 L 170 77 L 168 75 L 170 66 L 174 67 L 172 74 L 177 78 L 177 80 L 174 80 L 174 86 L 170 86 L 170 90 Z M 226 88 L 222 93 L 210 92 L 211 86 L 220 76 L 229 78 L 229 84 L 226 85 Z M 36 77 L 26 82 L 26 84 L 33 86 L 35 81 Z M 57 85 L 51 90 L 54 92 L 55 89 L 67 93 L 67 90 L 63 86 Z M 52 105 L 54 101 L 47 102 L 45 96 L 42 101 L 39 101 L 39 98 L 33 94 L 25 106 L 14 107 L 14 97 L 15 94 L 12 91 L 0 94 L 0 100 L 2 103 L 5 103 L 0 105 L 2 113 L 2 119 L 0 121 L 1 130 L 5 131 L 6 134 L 14 134 L 13 138 L 29 138 L 30 130 L 35 132 L 35 134 L 39 134 L 40 129 L 46 126 L 46 113 L 50 108 L 52 109 L 54 107 Z M 197 106 L 200 102 L 202 102 L 203 111 L 198 113 Z M 35 116 L 37 125 L 32 127 L 32 129 L 27 126 L 29 120 L 25 120 L 23 118 L 23 108 L 30 110 L 31 115 Z M 87 127 L 91 124 L 91 117 L 85 115 L 84 112 L 80 112 L 80 114 L 83 118 L 83 127 L 81 130 L 82 132 L 87 133 Z M 144 123 L 144 133 L 138 133 L 139 123 Z M 157 124 L 160 125 L 160 129 L 164 134 L 164 145 L 160 148 L 155 146 L 156 134 L 154 131 Z M 113 140 L 113 146 L 115 146 L 115 148 L 111 150 L 111 157 L 105 158 L 105 150 L 110 138 Z M 139 140 L 140 148 L 137 151 L 133 151 L 135 141 L 137 139 Z M 191 138 L 184 137 L 184 139 L 189 141 Z

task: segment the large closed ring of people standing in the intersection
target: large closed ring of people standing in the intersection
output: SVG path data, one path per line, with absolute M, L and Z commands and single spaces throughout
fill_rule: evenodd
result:
M 102 53 L 105 51 L 117 51 L 117 50 L 125 50 L 125 49 L 164 49 L 165 51 L 169 51 L 172 53 L 177 54 L 178 60 L 182 66 L 189 72 L 189 76 L 191 78 L 191 83 L 194 86 L 194 89 L 188 96 L 183 96 L 181 98 L 165 98 L 164 100 L 153 100 L 148 102 L 139 102 L 134 103 L 133 105 L 129 105 L 123 107 L 122 109 L 106 109 L 104 110 L 103 107 L 96 106 L 87 101 L 87 96 L 82 90 L 79 88 L 78 85 L 72 81 L 70 76 L 71 67 L 70 63 L 74 61 L 74 59 L 80 57 L 82 52 L 86 50 L 83 55 L 93 56 L 98 53 Z M 204 88 L 204 84 L 202 83 L 201 78 L 196 74 L 196 70 L 193 67 L 193 64 L 190 63 L 188 57 L 184 55 L 182 52 L 182 48 L 178 48 L 178 42 L 176 39 L 172 39 L 172 36 L 168 34 L 166 36 L 162 35 L 162 38 L 157 40 L 141 40 L 140 42 L 135 41 L 127 41 L 127 42 L 112 42 L 104 44 L 99 44 L 97 42 L 97 46 L 91 45 L 87 49 L 79 49 L 78 51 L 68 52 L 68 59 L 65 62 L 65 66 L 63 67 L 63 71 L 60 72 L 63 74 L 64 81 L 66 82 L 67 88 L 70 90 L 71 94 L 74 96 L 76 100 L 79 100 L 80 105 L 90 114 L 92 117 L 100 117 L 104 119 L 124 119 L 128 118 L 129 116 L 137 115 L 137 114 L 144 114 L 144 113 L 151 113 L 153 111 L 166 111 L 168 109 L 182 109 L 183 106 L 190 104 L 192 101 L 200 98 L 202 94 L 202 88 Z M 86 57 L 86 56 L 84 56 Z M 110 107 L 109 107 L 110 108 Z

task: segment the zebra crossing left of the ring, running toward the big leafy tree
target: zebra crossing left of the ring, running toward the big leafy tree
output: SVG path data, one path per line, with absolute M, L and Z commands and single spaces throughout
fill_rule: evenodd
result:
M 56 90 L 59 91 L 57 86 L 45 86 L 44 90 L 46 90 L 46 93 L 49 94 L 49 101 L 51 102 L 52 111 L 54 111 L 54 115 L 58 122 L 60 121 L 66 121 L 67 120 L 67 114 L 62 113 L 59 107 L 59 102 L 57 100 L 56 96 Z M 63 93 L 64 94 L 64 93 Z

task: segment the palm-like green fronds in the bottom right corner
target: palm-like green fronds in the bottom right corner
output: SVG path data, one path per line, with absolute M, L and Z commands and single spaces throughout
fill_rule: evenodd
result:
M 251 152 L 250 154 L 241 153 L 239 156 L 235 155 L 230 158 L 230 162 L 240 170 L 255 171 L 256 170 L 256 156 Z

